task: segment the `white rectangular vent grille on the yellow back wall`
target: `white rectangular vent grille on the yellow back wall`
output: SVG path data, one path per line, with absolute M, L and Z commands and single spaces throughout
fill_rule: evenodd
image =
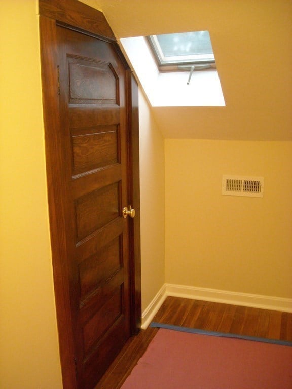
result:
M 264 177 L 223 175 L 222 195 L 264 197 Z

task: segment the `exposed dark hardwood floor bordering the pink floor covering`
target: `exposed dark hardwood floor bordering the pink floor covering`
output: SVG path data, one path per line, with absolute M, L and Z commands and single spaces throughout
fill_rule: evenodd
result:
M 292 341 L 292 314 L 273 310 L 167 297 L 153 321 Z M 157 331 L 148 328 L 130 338 L 95 389 L 119 389 Z

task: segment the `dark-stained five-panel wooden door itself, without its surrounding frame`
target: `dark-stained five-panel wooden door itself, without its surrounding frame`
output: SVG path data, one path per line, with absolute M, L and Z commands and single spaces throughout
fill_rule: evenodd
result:
M 57 27 L 70 315 L 78 387 L 131 334 L 126 70 L 114 45 Z

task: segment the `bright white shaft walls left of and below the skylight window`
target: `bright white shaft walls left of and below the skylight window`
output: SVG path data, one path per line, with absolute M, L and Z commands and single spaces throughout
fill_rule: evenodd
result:
M 153 107 L 225 106 L 216 69 L 161 73 L 145 37 L 120 40 L 139 82 Z

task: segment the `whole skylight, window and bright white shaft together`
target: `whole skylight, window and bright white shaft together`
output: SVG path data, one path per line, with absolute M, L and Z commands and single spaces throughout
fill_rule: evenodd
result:
M 133 36 L 120 43 L 153 107 L 225 106 L 208 31 L 152 35 L 160 61 L 150 39 Z

